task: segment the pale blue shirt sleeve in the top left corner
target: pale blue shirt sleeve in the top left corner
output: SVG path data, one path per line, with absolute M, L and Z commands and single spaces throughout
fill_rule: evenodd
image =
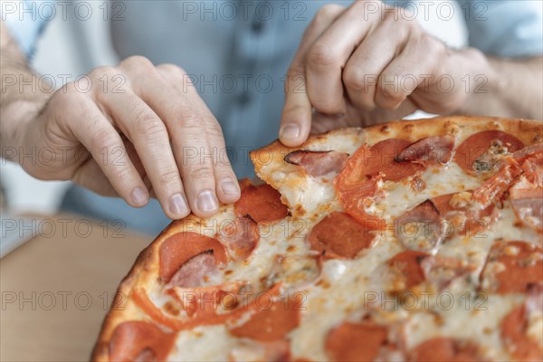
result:
M 2 5 L 2 20 L 14 40 L 30 59 L 38 37 L 47 22 L 55 15 L 54 2 L 12 1 Z

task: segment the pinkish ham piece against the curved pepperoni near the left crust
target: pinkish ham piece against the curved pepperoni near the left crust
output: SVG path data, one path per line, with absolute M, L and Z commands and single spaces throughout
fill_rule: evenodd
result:
M 212 252 L 202 252 L 186 261 L 168 281 L 166 288 L 193 288 L 221 282 L 221 272 Z

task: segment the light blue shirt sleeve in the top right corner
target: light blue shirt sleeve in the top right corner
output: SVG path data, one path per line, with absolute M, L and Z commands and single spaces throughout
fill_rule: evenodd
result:
M 543 54 L 543 2 L 462 0 L 460 4 L 471 46 L 508 58 Z

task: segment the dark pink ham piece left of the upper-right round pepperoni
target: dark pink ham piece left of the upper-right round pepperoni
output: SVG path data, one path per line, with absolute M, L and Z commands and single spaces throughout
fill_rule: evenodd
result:
M 412 161 L 423 165 L 447 164 L 452 157 L 454 138 L 451 135 L 422 138 L 405 148 L 397 161 Z

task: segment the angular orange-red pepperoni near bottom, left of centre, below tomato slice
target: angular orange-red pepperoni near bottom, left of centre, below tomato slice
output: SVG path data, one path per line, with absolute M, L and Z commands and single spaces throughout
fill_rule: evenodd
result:
M 300 325 L 301 302 L 296 298 L 278 299 L 270 293 L 263 293 L 256 304 L 257 308 L 249 320 L 230 329 L 233 337 L 272 342 L 285 338 Z

